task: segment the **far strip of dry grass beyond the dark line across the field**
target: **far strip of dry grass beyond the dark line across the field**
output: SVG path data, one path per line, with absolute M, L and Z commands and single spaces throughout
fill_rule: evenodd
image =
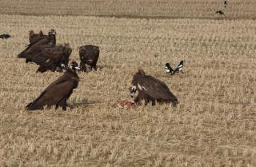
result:
M 0 14 L 94 15 L 127 18 L 256 18 L 254 0 L 0 0 Z M 61 5 L 60 5 L 61 4 Z

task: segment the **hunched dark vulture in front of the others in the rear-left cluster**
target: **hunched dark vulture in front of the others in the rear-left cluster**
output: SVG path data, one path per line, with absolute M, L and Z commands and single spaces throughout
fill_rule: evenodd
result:
M 35 54 L 31 61 L 39 65 L 37 72 L 43 73 L 47 70 L 60 72 L 62 66 L 68 65 L 71 52 L 69 44 L 45 48 Z

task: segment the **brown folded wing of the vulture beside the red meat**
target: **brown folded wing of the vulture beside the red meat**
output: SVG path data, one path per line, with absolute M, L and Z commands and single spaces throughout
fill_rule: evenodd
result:
M 142 76 L 137 80 L 138 91 L 143 91 L 155 99 L 178 101 L 177 97 L 175 97 L 174 94 L 170 92 L 168 86 L 157 78 L 152 76 Z

